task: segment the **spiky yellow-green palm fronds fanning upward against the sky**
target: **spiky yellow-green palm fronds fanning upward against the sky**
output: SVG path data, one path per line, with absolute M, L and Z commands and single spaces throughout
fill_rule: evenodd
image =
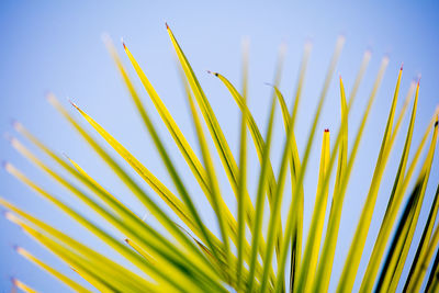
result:
M 247 54 L 244 54 L 244 82 L 240 90 L 235 88 L 224 76 L 211 72 L 228 89 L 241 113 L 239 155 L 235 157 L 192 67 L 168 25 L 167 31 L 181 65 L 181 77 L 193 119 L 192 122 L 196 131 L 196 147 L 201 150 L 201 157 L 195 154 L 193 147 L 185 139 L 179 125 L 167 110 L 128 47 L 125 44 L 123 44 L 123 47 L 169 134 L 212 205 L 217 219 L 215 224 L 219 228 L 218 235 L 211 230 L 212 224 L 209 225 L 202 221 L 200 211 L 195 207 L 193 195 L 190 194 L 187 183 L 177 170 L 175 161 L 171 159 L 158 133 L 157 125 L 153 123 L 149 116 L 149 110 L 147 111 L 144 106 L 132 79 L 128 77 L 127 69 L 110 41 L 105 41 L 108 48 L 122 75 L 142 121 L 150 134 L 169 178 L 173 182 L 176 193 L 160 182 L 146 165 L 134 157 L 127 148 L 82 109 L 71 103 L 79 112 L 79 116 L 87 122 L 88 127 L 83 126 L 77 117 L 67 111 L 53 94 L 48 95 L 48 101 L 79 132 L 97 156 L 121 179 L 151 216 L 160 223 L 162 232 L 153 228 L 147 223 L 148 221 L 143 221 L 133 213 L 72 159 L 53 151 L 20 123 L 14 123 L 14 128 L 61 167 L 64 173 L 67 172 L 69 177 L 46 165 L 18 138 L 10 137 L 11 145 L 57 183 L 87 204 L 114 229 L 122 233 L 126 237 L 126 243 L 114 238 L 105 229 L 94 225 L 89 221 L 89 215 L 74 210 L 49 191 L 43 189 L 38 183 L 29 179 L 11 164 L 5 164 L 5 170 L 99 237 L 116 253 L 120 253 L 127 263 L 131 263 L 131 267 L 115 262 L 83 243 L 74 239 L 68 234 L 54 228 L 50 223 L 44 223 L 13 203 L 1 199 L 1 205 L 8 210 L 5 213 L 7 218 L 22 227 L 31 237 L 64 260 L 92 286 L 102 292 L 228 292 L 230 290 L 237 292 L 326 292 L 329 286 L 337 239 L 339 238 L 344 199 L 369 113 L 389 63 L 387 58 L 383 58 L 381 63 L 367 106 L 360 117 L 359 128 L 354 137 L 349 139 L 349 142 L 353 142 L 350 147 L 348 147 L 349 111 L 368 67 L 370 53 L 367 52 L 364 54 L 349 95 L 345 92 L 340 77 L 340 127 L 335 136 L 336 138 L 333 138 L 335 143 L 331 147 L 329 145 L 329 131 L 325 129 L 323 133 L 319 169 L 311 172 L 318 174 L 314 211 L 309 229 L 304 234 L 304 178 L 308 169 L 312 146 L 316 144 L 315 140 L 319 136 L 317 125 L 322 117 L 324 101 L 333 80 L 344 38 L 337 41 L 309 127 L 303 156 L 300 156 L 297 151 L 294 126 L 311 52 L 309 44 L 306 44 L 304 48 L 294 103 L 291 110 L 289 110 L 282 93 L 278 89 L 280 69 L 278 70 L 278 77 L 272 86 L 273 95 L 269 109 L 267 129 L 263 132 L 264 137 L 262 137 L 262 132 L 247 106 Z M 279 67 L 281 65 L 282 60 L 280 60 Z M 419 291 L 425 283 L 427 292 L 437 292 L 438 290 L 439 279 L 436 275 L 439 273 L 439 253 L 437 252 L 439 229 L 435 229 L 434 226 L 439 207 L 439 189 L 436 194 L 431 194 L 434 195 L 434 201 L 420 241 L 413 244 L 417 245 L 416 256 L 414 259 L 407 258 L 415 229 L 418 226 L 420 207 L 426 196 L 426 188 L 436 149 L 438 111 L 431 113 L 432 117 L 425 129 L 421 140 L 415 145 L 412 142 L 412 137 L 418 104 L 419 82 L 410 84 L 403 106 L 399 108 L 399 111 L 396 111 L 402 71 L 403 68 L 401 68 L 396 79 L 387 123 L 383 125 L 384 135 L 370 189 L 342 273 L 338 280 L 337 292 L 351 292 L 356 280 L 362 280 L 360 292 L 371 292 L 372 290 L 395 292 L 401 282 L 405 283 L 404 290 L 407 292 Z M 414 99 L 412 99 L 413 97 Z M 284 124 L 284 144 L 281 164 L 279 169 L 274 170 L 270 161 L 270 148 L 272 146 L 273 121 L 277 115 L 275 108 L 278 103 Z M 364 275 L 358 275 L 383 173 L 394 147 L 395 137 L 401 129 L 403 119 L 409 106 L 412 106 L 412 113 L 405 134 L 405 144 L 401 154 L 398 169 L 394 174 L 394 184 L 389 195 L 387 207 L 373 251 L 367 262 L 365 273 Z M 210 149 L 209 136 L 204 131 L 205 126 L 236 196 L 238 207 L 236 214 L 226 205 L 222 195 L 217 171 L 213 164 L 214 154 Z M 90 134 L 90 127 L 133 168 L 156 194 L 147 193 L 137 183 L 136 179 L 125 171 L 126 167 L 121 165 L 105 149 L 102 142 L 93 138 Z M 247 140 L 247 133 L 250 134 L 251 142 Z M 429 138 L 430 136 L 431 138 Z M 249 194 L 247 189 L 247 149 L 251 143 L 251 147 L 255 147 L 260 162 L 256 194 Z M 425 155 L 423 156 L 423 154 Z M 419 170 L 418 173 L 415 173 L 415 170 Z M 291 190 L 285 190 L 288 176 L 291 177 Z M 330 188 L 333 179 L 334 187 Z M 329 190 L 333 191 L 331 196 L 329 196 Z M 406 194 L 407 196 L 405 196 Z M 284 225 L 282 225 L 281 221 L 283 196 L 291 196 L 291 205 L 289 206 Z M 312 195 L 308 194 L 307 196 Z M 157 204 L 158 200 L 162 200 L 169 206 L 169 210 L 162 210 Z M 264 206 L 266 200 L 268 200 L 269 206 Z M 330 209 L 327 210 L 328 202 L 330 203 Z M 269 215 L 266 234 L 262 229 L 264 212 Z M 325 218 L 328 218 L 326 224 Z M 177 219 L 182 225 L 179 225 Z M 250 233 L 246 235 L 247 228 Z M 307 235 L 307 238 L 304 239 L 303 235 Z M 61 274 L 23 248 L 18 247 L 16 252 L 46 270 L 71 290 L 89 292 L 88 289 Z M 436 258 L 432 261 L 435 253 Z M 410 264 L 408 278 L 401 280 L 402 270 L 407 262 Z M 427 268 L 430 267 L 431 262 L 432 268 L 428 275 Z M 34 290 L 19 280 L 14 279 L 13 283 L 24 291 L 34 292 Z

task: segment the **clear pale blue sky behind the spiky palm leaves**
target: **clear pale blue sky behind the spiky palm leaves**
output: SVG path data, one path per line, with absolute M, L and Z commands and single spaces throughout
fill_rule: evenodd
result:
M 421 74 L 414 146 L 417 146 L 438 104 L 438 14 L 439 5 L 434 1 L 423 3 L 368 1 L 361 4 L 349 1 L 330 3 L 318 1 L 308 1 L 308 3 L 299 1 L 184 1 L 184 3 L 183 1 L 126 1 L 125 3 L 117 1 L 71 1 L 69 3 L 67 1 L 1 1 L 0 34 L 3 41 L 0 47 L 0 133 L 18 136 L 10 121 L 15 119 L 22 122 L 54 150 L 58 154 L 67 154 L 136 214 L 143 216 L 146 211 L 130 196 L 130 192 L 45 100 L 48 91 L 54 92 L 61 103 L 80 119 L 67 102 L 67 99 L 74 100 L 173 190 L 153 142 L 144 129 L 101 41 L 103 33 L 108 33 L 114 40 L 130 74 L 135 77 L 119 42 L 121 37 L 125 40 L 180 128 L 199 151 L 189 108 L 176 69 L 173 48 L 165 29 L 165 22 L 168 22 L 192 64 L 236 157 L 239 133 L 238 109 L 224 86 L 205 71 L 222 72 L 233 83 L 240 87 L 240 44 L 243 37 L 250 40 L 249 105 L 259 127 L 264 133 L 271 95 L 270 88 L 264 83 L 272 81 L 279 47 L 285 44 L 288 48 L 280 89 L 288 104 L 291 105 L 303 45 L 306 41 L 311 41 L 313 50 L 295 128 L 299 151 L 302 155 L 336 38 L 342 34 L 346 36 L 346 45 L 335 71 L 335 78 L 330 83 L 305 178 L 305 237 L 314 205 L 322 133 L 324 128 L 334 129 L 331 137 L 331 143 L 334 143 L 339 124 L 339 89 L 336 77 L 341 75 L 349 93 L 362 55 L 367 49 L 371 49 L 372 59 L 349 120 L 349 142 L 351 142 L 381 59 L 389 56 L 390 64 L 364 132 L 344 204 L 330 283 L 330 291 L 334 291 L 372 178 L 402 63 L 404 63 L 404 72 L 397 110 L 402 105 L 410 81 Z M 214 217 L 207 207 L 207 202 L 202 199 L 200 189 L 196 188 L 196 181 L 188 176 L 189 169 L 159 115 L 143 91 L 142 84 L 136 78 L 134 80 L 161 138 L 172 154 L 178 170 L 184 173 L 183 178 L 190 187 L 192 196 L 196 199 L 203 219 L 210 222 L 210 227 L 216 232 Z M 410 108 L 412 105 L 409 110 Z M 367 266 L 364 260 L 372 251 L 379 224 L 386 207 L 406 128 L 407 117 L 402 125 L 382 180 L 363 260 L 359 269 L 360 278 L 354 289 L 360 285 L 359 280 Z M 271 157 L 275 173 L 283 144 L 282 135 L 283 124 L 279 115 L 275 120 L 274 132 L 277 144 Z M 20 139 L 24 140 L 22 137 Z M 35 150 L 27 142 L 26 145 Z M 86 215 L 90 215 L 95 223 L 101 223 L 68 192 L 14 151 L 5 139 L 0 140 L 0 154 L 1 159 L 12 162 L 42 187 Z M 44 156 L 42 157 L 45 161 L 49 161 Z M 431 203 L 439 181 L 438 161 L 435 158 L 425 206 Z M 221 171 L 217 157 L 215 157 L 215 166 L 219 172 L 218 178 L 226 202 L 235 213 L 234 196 L 224 171 Z M 249 147 L 250 194 L 254 194 L 256 190 L 257 176 L 256 153 L 252 147 Z M 150 189 L 144 185 L 145 190 L 153 194 Z M 289 188 L 288 182 L 286 189 Z M 282 205 L 283 216 L 288 212 L 288 194 L 285 192 L 286 200 Z M 100 245 L 95 238 L 4 170 L 0 171 L 0 195 L 44 221 L 54 223 L 56 227 L 90 244 L 99 251 L 120 260 L 112 255 L 110 249 Z M 157 196 L 154 196 L 156 202 L 159 202 Z M 423 209 L 419 224 L 425 223 L 427 214 L 428 211 Z M 153 217 L 147 217 L 146 221 L 155 225 Z M 106 228 L 111 232 L 111 227 L 106 226 Z M 79 280 L 67 266 L 56 260 L 4 217 L 0 218 L 0 292 L 9 292 L 11 277 L 18 277 L 43 292 L 66 291 L 57 281 L 18 256 L 12 249 L 13 245 L 23 246 L 75 280 Z M 420 233 L 421 230 L 417 230 L 415 243 L 418 241 Z M 122 235 L 114 235 L 123 239 Z M 414 251 L 410 251 L 412 256 L 413 253 Z M 407 269 L 409 267 L 405 269 L 404 275 Z

